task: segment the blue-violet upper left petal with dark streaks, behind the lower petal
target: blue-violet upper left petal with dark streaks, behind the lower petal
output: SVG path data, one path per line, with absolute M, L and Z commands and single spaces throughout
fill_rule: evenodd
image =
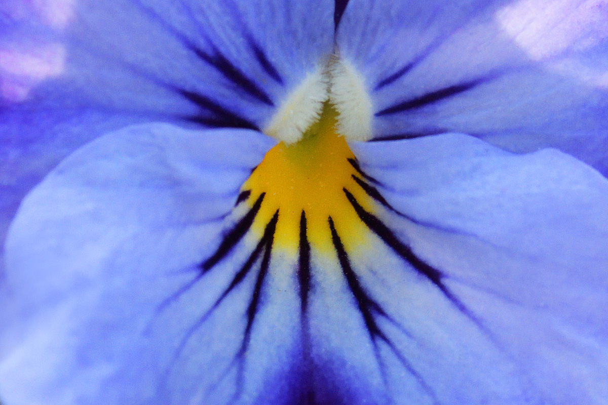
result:
M 0 244 L 24 194 L 111 129 L 266 126 L 333 49 L 333 9 L 330 0 L 3 2 Z

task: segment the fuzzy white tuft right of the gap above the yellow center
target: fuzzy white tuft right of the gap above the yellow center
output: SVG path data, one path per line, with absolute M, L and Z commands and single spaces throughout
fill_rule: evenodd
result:
M 373 106 L 364 78 L 347 60 L 330 66 L 330 101 L 338 112 L 337 132 L 349 141 L 371 139 Z

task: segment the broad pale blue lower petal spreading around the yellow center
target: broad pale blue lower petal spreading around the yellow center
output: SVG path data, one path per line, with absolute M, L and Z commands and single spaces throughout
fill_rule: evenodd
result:
M 392 207 L 350 199 L 364 248 L 328 220 L 333 254 L 274 254 L 273 217 L 217 261 L 273 144 L 151 124 L 61 163 L 9 234 L 4 400 L 603 403 L 602 175 L 461 134 L 353 144 Z

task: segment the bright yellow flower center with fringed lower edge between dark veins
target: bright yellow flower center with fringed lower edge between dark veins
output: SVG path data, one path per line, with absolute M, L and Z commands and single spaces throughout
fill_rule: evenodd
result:
M 333 252 L 330 217 L 347 250 L 358 248 L 368 235 L 344 190 L 367 211 L 373 212 L 373 202 L 355 180 L 361 175 L 353 152 L 336 132 L 336 115 L 325 103 L 319 120 L 302 139 L 292 145 L 281 142 L 268 151 L 243 185 L 250 191 L 250 206 L 264 193 L 252 231 L 261 236 L 278 211 L 274 247 L 285 253 L 297 254 L 302 213 L 308 242 L 317 251 Z

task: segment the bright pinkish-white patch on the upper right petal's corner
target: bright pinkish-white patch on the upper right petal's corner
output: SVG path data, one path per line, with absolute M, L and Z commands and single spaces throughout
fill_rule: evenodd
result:
M 607 8 L 607 0 L 520 0 L 500 9 L 496 19 L 531 58 L 542 60 L 606 38 Z

